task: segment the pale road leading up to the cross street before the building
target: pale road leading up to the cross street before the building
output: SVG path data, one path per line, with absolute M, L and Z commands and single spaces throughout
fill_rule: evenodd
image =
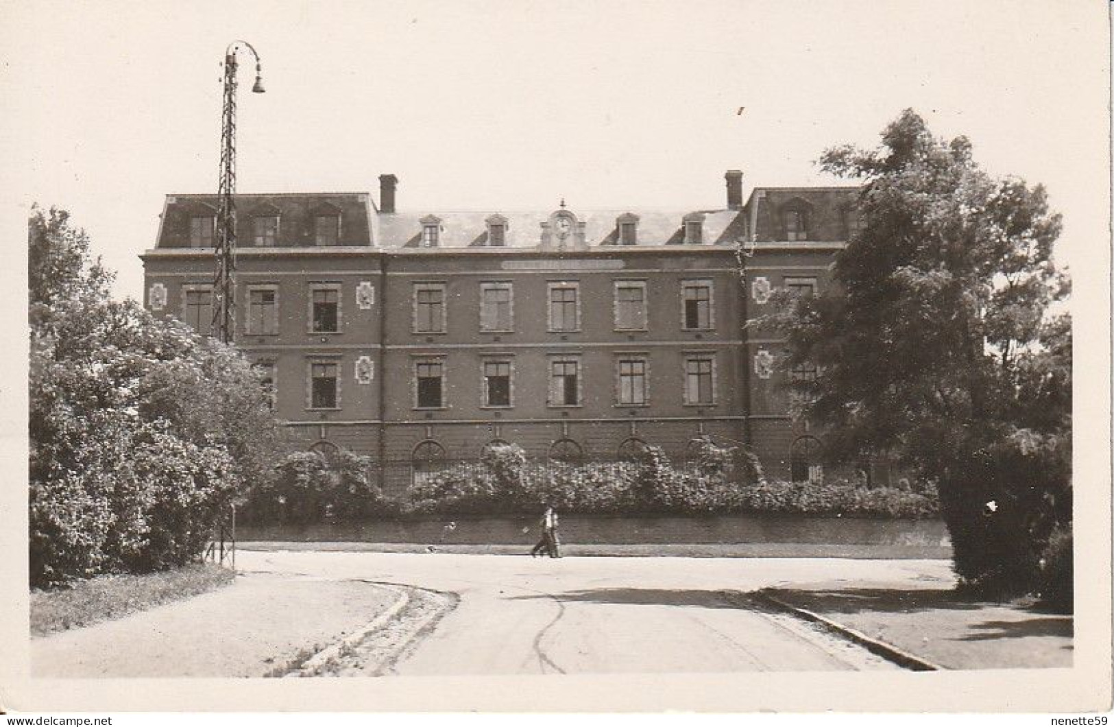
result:
M 244 552 L 246 572 L 400 583 L 460 595 L 401 675 L 892 669 L 747 605 L 768 585 L 950 583 L 945 561 Z

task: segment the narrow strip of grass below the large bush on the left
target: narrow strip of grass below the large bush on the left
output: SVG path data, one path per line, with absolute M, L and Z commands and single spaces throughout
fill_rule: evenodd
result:
M 158 573 L 101 575 L 31 591 L 31 636 L 79 629 L 228 585 L 235 573 L 196 563 Z

